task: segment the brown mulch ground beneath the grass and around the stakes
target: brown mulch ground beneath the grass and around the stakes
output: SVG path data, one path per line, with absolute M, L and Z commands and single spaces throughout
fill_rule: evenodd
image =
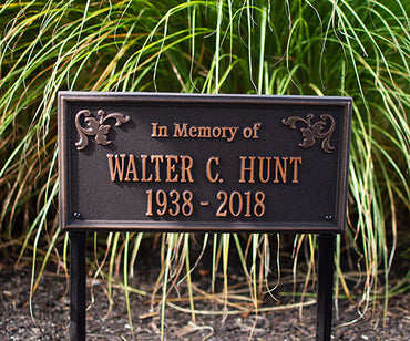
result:
M 139 282 L 139 288 L 151 290 L 152 278 Z M 32 313 L 28 304 L 30 273 L 12 268 L 0 269 L 0 339 L 1 340 L 68 340 L 69 294 L 63 276 L 47 275 L 32 301 Z M 157 311 L 150 310 L 150 297 L 131 294 L 134 338 L 127 317 L 124 291 L 114 287 L 114 306 L 109 311 L 106 282 L 88 282 L 88 340 L 160 340 L 161 321 Z M 286 298 L 281 299 L 286 302 Z M 255 314 L 228 317 L 191 314 L 168 307 L 165 317 L 166 340 L 315 340 L 316 306 L 311 298 L 305 299 L 300 318 L 299 308 L 271 310 Z M 310 302 L 310 303 L 309 303 Z M 183 307 L 186 303 L 175 302 Z M 262 308 L 279 309 L 268 298 Z M 197 310 L 223 311 L 223 306 L 199 300 Z M 357 320 L 357 321 L 355 321 Z M 249 338 L 249 335 L 252 337 Z M 392 298 L 383 324 L 383 307 L 375 306 L 375 312 L 361 319 L 357 309 L 347 300 L 339 301 L 339 319 L 334 318 L 334 340 L 409 340 L 410 293 Z

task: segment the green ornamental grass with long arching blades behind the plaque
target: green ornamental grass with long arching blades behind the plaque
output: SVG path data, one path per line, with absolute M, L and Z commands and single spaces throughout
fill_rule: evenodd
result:
M 16 266 L 30 259 L 32 292 L 45 267 L 66 271 L 57 200 L 60 90 L 351 96 L 349 211 L 346 236 L 337 239 L 336 294 L 353 300 L 362 313 L 382 292 L 387 309 L 389 294 L 402 289 L 400 282 L 390 286 L 389 273 L 409 251 L 400 242 L 409 241 L 409 7 L 404 0 L 6 1 L 1 252 Z M 280 248 L 289 245 L 284 236 L 205 234 L 193 259 L 185 234 L 94 234 L 93 276 L 106 278 L 111 290 L 121 269 L 127 293 L 141 246 L 153 239 L 162 264 L 154 293 L 162 292 L 164 310 L 171 290 L 186 282 L 193 319 L 192 275 L 205 252 L 212 291 L 223 275 L 225 311 L 229 255 L 239 258 L 249 288 L 244 296 L 257 311 L 280 279 Z M 295 280 L 298 265 L 306 264 L 303 288 L 314 279 L 316 248 L 316 236 L 290 242 Z M 403 250 L 399 256 L 397 248 Z M 360 273 L 356 288 L 348 276 L 353 271 Z

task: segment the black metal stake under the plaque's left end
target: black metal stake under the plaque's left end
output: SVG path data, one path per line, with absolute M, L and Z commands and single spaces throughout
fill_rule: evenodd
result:
M 85 340 L 85 232 L 70 236 L 70 340 Z

